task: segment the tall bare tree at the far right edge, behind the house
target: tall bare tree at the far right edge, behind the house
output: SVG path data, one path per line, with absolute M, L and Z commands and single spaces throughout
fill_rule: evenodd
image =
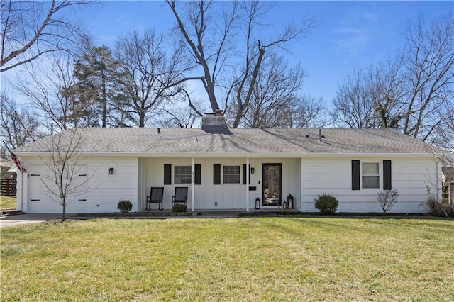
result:
M 420 16 L 404 33 L 404 133 L 427 140 L 454 97 L 454 14 L 431 23 Z

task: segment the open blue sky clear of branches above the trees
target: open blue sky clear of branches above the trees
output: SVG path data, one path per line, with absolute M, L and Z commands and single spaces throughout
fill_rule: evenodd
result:
M 454 11 L 454 1 L 278 1 L 270 14 L 276 33 L 306 14 L 319 26 L 287 54 L 301 62 L 309 77 L 304 92 L 323 96 L 330 104 L 336 89 L 356 67 L 386 60 L 404 45 L 402 32 L 420 13 L 434 18 Z M 113 46 L 118 35 L 132 29 L 170 30 L 174 18 L 163 1 L 103 1 L 84 9 L 84 25 L 99 45 Z

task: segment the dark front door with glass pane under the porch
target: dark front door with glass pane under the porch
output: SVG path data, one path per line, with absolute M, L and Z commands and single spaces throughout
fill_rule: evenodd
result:
M 282 205 L 282 164 L 263 164 L 262 206 Z

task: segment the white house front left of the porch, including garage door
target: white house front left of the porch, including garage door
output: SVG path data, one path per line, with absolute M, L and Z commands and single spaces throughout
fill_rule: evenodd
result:
M 30 157 L 23 162 L 28 173 L 23 174 L 19 181 L 18 206 L 26 213 L 61 213 L 62 207 L 45 193 L 41 181 L 45 174 L 49 174 L 48 168 L 40 160 Z M 70 197 L 67 213 L 116 212 L 121 199 L 130 200 L 132 211 L 137 211 L 137 157 L 92 156 L 82 165 L 84 167 L 79 171 L 77 181 L 88 179 L 87 189 L 83 194 Z M 113 175 L 109 175 L 109 167 L 114 167 Z

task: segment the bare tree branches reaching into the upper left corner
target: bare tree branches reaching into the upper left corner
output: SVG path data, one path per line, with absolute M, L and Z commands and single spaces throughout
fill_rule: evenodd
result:
M 89 1 L 1 0 L 0 72 L 32 62 L 49 53 L 65 50 L 76 41 L 79 24 L 64 13 Z

